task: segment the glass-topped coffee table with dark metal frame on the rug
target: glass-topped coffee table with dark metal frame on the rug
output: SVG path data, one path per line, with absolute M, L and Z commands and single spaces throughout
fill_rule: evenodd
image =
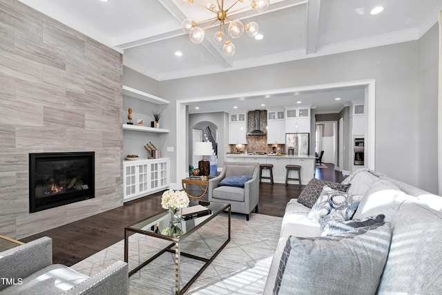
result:
M 131 225 L 129 227 L 124 228 L 124 261 L 128 263 L 128 249 L 129 249 L 129 234 L 132 233 L 139 233 L 144 234 L 146 236 L 152 236 L 155 238 L 159 238 L 162 240 L 171 241 L 169 245 L 161 249 L 160 251 L 157 251 L 155 255 L 153 255 L 151 258 L 148 258 L 148 260 L 144 261 L 144 263 L 141 263 L 135 269 L 131 270 L 129 272 L 129 276 L 132 276 L 136 272 L 138 272 L 142 267 L 145 267 L 149 263 L 151 263 L 156 258 L 160 257 L 162 254 L 169 252 L 172 254 L 175 254 L 175 294 L 180 295 L 184 294 L 187 289 L 192 285 L 193 282 L 204 272 L 204 269 L 209 266 L 209 264 L 215 259 L 218 254 L 224 249 L 224 247 L 227 245 L 227 243 L 230 241 L 230 232 L 231 232 L 231 208 L 230 204 L 226 203 L 220 203 L 220 202 L 206 202 L 206 201 L 198 201 L 198 200 L 191 200 L 190 206 L 196 206 L 196 205 L 202 205 L 206 207 L 207 209 L 211 210 L 211 213 L 206 216 L 202 217 L 195 217 L 190 220 L 183 220 L 182 221 L 182 231 L 184 234 L 180 236 L 179 238 L 174 238 L 171 236 L 167 236 L 165 234 L 162 234 L 162 230 L 166 227 L 169 227 L 169 211 L 164 211 L 162 213 L 159 213 L 155 216 L 148 217 L 144 220 L 140 220 L 140 222 L 135 223 L 134 225 Z M 220 215 L 221 212 L 228 210 L 229 218 L 227 219 L 227 238 L 226 240 L 220 245 L 218 250 L 213 251 L 213 254 L 211 256 L 199 256 L 198 254 L 190 254 L 186 253 L 184 251 L 181 251 L 182 243 L 185 242 L 186 238 L 189 238 L 193 233 L 198 231 L 199 229 L 202 229 L 202 227 L 210 227 L 210 225 L 207 225 L 208 222 L 213 220 L 216 216 Z M 215 220 L 213 220 L 215 222 Z M 208 228 L 210 231 L 211 228 Z M 202 239 L 204 243 L 204 238 L 202 238 L 202 235 L 197 235 L 198 238 Z M 195 236 L 193 236 L 193 239 Z M 221 241 L 222 242 L 222 241 Z M 197 251 L 198 252 L 198 251 Z M 185 256 L 187 258 L 200 260 L 204 265 L 196 272 L 196 274 L 189 280 L 189 282 L 184 285 L 180 289 L 180 260 L 181 258 Z M 158 274 L 158 276 L 162 276 L 164 274 Z

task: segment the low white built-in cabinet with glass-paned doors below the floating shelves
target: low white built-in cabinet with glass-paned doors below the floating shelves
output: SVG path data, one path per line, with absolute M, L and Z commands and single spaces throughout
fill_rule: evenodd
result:
M 167 189 L 169 166 L 168 158 L 125 160 L 123 163 L 124 202 Z

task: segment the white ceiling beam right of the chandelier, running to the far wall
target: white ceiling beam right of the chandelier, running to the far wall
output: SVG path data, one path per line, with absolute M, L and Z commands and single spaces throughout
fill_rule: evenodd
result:
M 309 3 L 307 3 L 306 55 L 316 53 L 316 47 L 318 46 L 320 1 L 321 0 L 309 0 Z

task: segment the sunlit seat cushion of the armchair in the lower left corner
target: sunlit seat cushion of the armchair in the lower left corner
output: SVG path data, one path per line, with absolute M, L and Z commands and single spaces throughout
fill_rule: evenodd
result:
M 4 294 L 62 294 L 89 277 L 64 265 L 49 265 L 23 278 L 21 285 L 6 288 Z

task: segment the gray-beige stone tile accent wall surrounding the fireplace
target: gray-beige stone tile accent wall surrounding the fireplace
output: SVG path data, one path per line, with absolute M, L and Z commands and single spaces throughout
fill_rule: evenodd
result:
M 16 0 L 0 19 L 0 234 L 121 206 L 122 55 Z M 95 198 L 29 213 L 28 154 L 62 151 L 95 151 Z

